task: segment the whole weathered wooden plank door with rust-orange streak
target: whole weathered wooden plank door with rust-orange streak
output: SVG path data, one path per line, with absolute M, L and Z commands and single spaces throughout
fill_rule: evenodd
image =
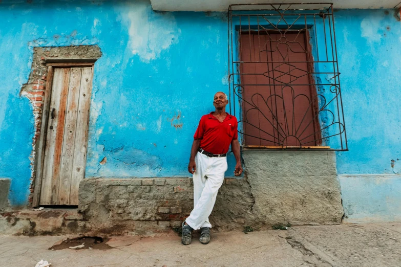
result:
M 40 205 L 78 205 L 85 176 L 92 67 L 55 68 Z

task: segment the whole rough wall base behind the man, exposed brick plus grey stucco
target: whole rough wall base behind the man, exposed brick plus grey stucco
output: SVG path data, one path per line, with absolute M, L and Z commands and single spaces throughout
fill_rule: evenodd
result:
M 216 229 L 340 224 L 344 214 L 332 151 L 244 152 L 245 177 L 225 179 L 210 222 Z M 193 181 L 85 179 L 79 211 L 87 228 L 147 234 L 178 228 L 193 208 Z

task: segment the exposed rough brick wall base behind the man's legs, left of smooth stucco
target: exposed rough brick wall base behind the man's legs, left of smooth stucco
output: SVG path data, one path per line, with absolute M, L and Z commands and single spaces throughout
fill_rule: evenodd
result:
M 78 209 L 92 231 L 149 234 L 181 227 L 193 199 L 193 181 L 187 177 L 85 179 Z M 246 179 L 225 179 L 210 222 L 227 230 L 252 224 L 253 203 Z

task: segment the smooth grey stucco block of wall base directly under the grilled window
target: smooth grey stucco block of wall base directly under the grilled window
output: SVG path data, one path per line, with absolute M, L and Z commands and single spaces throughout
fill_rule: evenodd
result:
M 266 224 L 339 224 L 340 184 L 332 151 L 244 152 L 255 205 Z

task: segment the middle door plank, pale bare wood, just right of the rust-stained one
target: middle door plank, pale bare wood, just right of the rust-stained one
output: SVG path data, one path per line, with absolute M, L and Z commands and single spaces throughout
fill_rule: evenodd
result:
M 64 127 L 64 138 L 62 141 L 57 205 L 70 205 L 71 174 L 81 74 L 82 68 L 71 68 L 66 110 L 66 124 Z

